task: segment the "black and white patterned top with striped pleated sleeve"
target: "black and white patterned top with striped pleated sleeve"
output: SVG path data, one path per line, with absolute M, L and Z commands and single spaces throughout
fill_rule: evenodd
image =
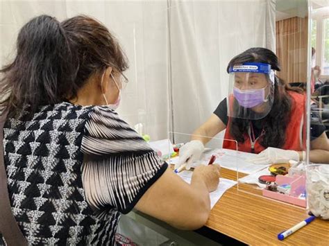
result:
M 8 119 L 3 143 L 12 211 L 29 245 L 114 245 L 120 213 L 167 164 L 106 106 L 60 103 L 27 116 Z

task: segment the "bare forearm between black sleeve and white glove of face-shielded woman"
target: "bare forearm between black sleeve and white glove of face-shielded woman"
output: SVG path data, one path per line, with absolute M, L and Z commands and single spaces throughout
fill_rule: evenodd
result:
M 223 121 L 216 114 L 212 114 L 205 123 L 193 132 L 191 140 L 200 140 L 205 145 L 225 128 L 226 125 Z

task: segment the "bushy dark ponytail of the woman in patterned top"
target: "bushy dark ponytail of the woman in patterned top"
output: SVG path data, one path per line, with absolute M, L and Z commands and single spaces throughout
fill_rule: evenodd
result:
M 26 105 L 35 112 L 39 105 L 58 103 L 76 71 L 78 62 L 60 23 L 47 15 L 35 17 L 19 31 L 15 60 L 0 70 L 1 96 L 8 95 L 1 104 L 14 113 Z

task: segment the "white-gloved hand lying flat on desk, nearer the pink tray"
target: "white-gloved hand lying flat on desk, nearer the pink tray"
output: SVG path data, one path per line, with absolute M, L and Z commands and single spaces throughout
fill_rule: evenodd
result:
M 246 159 L 253 164 L 277 164 L 289 160 L 299 161 L 299 154 L 294 150 L 281 150 L 280 148 L 269 147 L 260 152 L 257 157 Z

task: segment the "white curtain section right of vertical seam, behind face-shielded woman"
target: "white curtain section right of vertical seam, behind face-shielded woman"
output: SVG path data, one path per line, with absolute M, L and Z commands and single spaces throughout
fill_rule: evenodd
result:
M 273 0 L 173 1 L 171 6 L 173 129 L 191 133 L 227 96 L 230 59 L 255 46 L 275 50 L 275 8 Z

